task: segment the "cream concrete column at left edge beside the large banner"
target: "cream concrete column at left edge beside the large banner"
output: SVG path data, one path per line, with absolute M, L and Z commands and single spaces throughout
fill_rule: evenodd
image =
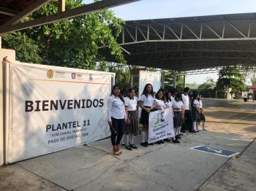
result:
M 4 57 L 8 57 L 9 61 L 15 61 L 15 50 L 7 50 L 7 49 L 0 49 L 0 165 L 4 164 L 4 157 L 5 157 L 5 150 L 4 150 L 4 142 L 7 140 L 4 130 L 4 95 L 6 90 L 4 90 L 4 82 L 5 82 L 5 75 L 4 75 L 4 65 L 2 63 Z

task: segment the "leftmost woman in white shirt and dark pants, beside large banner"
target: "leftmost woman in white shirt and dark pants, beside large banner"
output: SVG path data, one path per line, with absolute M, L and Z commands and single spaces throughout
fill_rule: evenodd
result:
M 114 85 L 108 98 L 108 125 L 111 130 L 113 155 L 121 155 L 120 141 L 124 134 L 125 120 L 127 120 L 127 114 L 124 109 L 124 98 L 120 93 L 120 87 Z

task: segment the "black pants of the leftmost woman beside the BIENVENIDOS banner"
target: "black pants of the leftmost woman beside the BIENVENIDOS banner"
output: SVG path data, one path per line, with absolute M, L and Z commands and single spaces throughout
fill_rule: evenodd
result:
M 111 143 L 113 146 L 120 144 L 121 139 L 124 135 L 124 119 L 118 120 L 111 117 L 112 128 L 111 130 Z

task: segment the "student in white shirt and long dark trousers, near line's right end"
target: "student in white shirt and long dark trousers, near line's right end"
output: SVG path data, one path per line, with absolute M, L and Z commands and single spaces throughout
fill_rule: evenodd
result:
M 189 87 L 184 88 L 184 93 L 181 95 L 182 96 L 182 101 L 184 103 L 184 109 L 185 109 L 185 120 L 187 121 L 189 125 L 189 132 L 190 133 L 196 133 L 195 130 L 193 130 L 193 124 L 192 124 L 192 116 L 191 116 L 191 111 L 189 108 L 189 92 L 190 89 Z M 181 132 L 185 133 L 185 127 L 182 125 L 181 127 Z

